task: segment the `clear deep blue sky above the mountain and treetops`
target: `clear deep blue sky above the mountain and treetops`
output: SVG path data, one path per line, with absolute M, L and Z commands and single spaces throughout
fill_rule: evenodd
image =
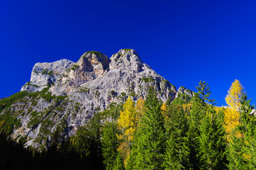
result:
M 225 105 L 238 79 L 256 103 L 256 1 L 0 1 L 0 97 L 20 91 L 33 64 L 121 48 L 177 88 L 210 85 Z

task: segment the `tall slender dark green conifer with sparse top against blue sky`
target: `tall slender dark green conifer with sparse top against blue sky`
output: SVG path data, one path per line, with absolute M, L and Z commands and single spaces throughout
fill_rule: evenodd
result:
M 189 127 L 184 143 L 186 150 L 186 169 L 203 169 L 206 165 L 206 159 L 203 157 L 201 152 L 201 125 L 203 118 L 206 116 L 209 103 L 213 104 L 214 100 L 210 100 L 210 87 L 207 86 L 206 82 L 200 81 L 199 86 L 196 87 L 198 93 L 193 96 L 193 104 L 191 107 L 191 116 L 189 117 Z

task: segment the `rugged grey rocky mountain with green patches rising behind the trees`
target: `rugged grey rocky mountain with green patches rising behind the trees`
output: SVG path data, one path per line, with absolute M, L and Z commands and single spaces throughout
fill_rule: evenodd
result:
M 70 137 L 110 103 L 123 103 L 128 96 L 145 98 L 150 87 L 163 102 L 193 96 L 184 87 L 177 91 L 130 49 L 110 58 L 91 51 L 78 62 L 36 63 L 31 81 L 0 101 L 0 130 L 25 146 L 46 146 L 56 132 Z

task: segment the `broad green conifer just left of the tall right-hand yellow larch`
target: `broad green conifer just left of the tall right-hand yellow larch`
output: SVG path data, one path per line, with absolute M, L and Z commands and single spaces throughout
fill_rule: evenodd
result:
M 202 120 L 200 131 L 200 151 L 204 160 L 203 167 L 206 169 L 225 169 L 225 129 L 213 106 L 208 106 L 208 113 Z

